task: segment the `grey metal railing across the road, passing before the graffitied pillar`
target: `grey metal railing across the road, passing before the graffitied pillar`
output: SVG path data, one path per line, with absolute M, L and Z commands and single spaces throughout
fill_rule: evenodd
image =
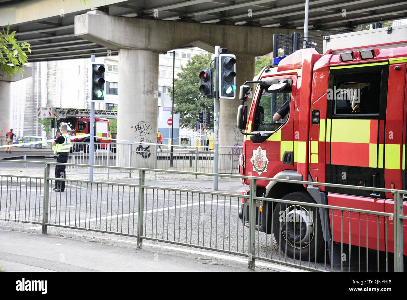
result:
M 162 146 L 163 152 L 160 152 L 159 146 L 152 146 L 149 149 L 142 144 L 125 143 L 95 143 L 94 164 L 99 166 L 143 166 L 147 160 L 152 169 L 178 170 L 210 173 L 213 171 L 213 151 L 206 151 L 205 147 L 177 147 L 174 145 L 174 151 L 171 154 L 167 146 Z M 165 148 L 164 148 L 165 147 Z M 150 151 L 150 149 L 154 149 Z M 220 174 L 239 173 L 239 155 L 242 147 L 219 147 L 223 152 L 219 154 Z M 89 168 L 84 166 L 89 164 L 89 143 L 75 143 L 74 151 L 69 154 L 68 163 L 80 164 L 81 166 L 69 166 L 68 171 L 71 174 L 89 173 Z M 166 150 L 165 150 L 166 149 Z M 123 169 L 112 171 L 109 168 L 94 169 L 94 173 L 129 173 Z

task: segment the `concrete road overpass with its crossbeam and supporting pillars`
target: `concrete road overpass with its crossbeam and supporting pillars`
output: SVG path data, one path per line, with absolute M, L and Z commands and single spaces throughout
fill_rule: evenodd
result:
M 29 61 L 118 54 L 118 138 L 155 142 L 159 53 L 188 46 L 210 52 L 214 45 L 228 48 L 236 54 L 240 85 L 253 78 L 255 57 L 271 52 L 273 34 L 301 30 L 304 3 L 89 0 L 85 6 L 79 0 L 0 0 L 0 25 L 9 23 L 18 31 L 18 39 L 31 43 Z M 397 0 L 311 0 L 309 23 L 315 28 L 334 28 L 403 18 L 406 4 Z M 221 99 L 220 145 L 235 143 L 238 105 L 237 99 Z M 138 124 L 150 130 L 136 132 Z

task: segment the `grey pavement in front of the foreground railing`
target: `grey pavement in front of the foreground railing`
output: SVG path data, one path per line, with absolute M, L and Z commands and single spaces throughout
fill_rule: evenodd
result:
M 0 226 L 0 270 L 6 272 L 248 272 L 247 258 L 136 241 L 40 234 Z M 274 268 L 276 267 L 276 268 Z M 257 271 L 282 271 L 262 263 Z M 287 270 L 287 269 L 284 269 Z

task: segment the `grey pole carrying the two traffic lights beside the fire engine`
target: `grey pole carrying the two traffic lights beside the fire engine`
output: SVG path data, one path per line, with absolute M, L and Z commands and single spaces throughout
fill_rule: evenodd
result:
M 213 147 L 213 173 L 218 173 L 219 162 L 219 46 L 215 46 L 215 102 L 214 102 L 214 147 Z M 218 190 L 218 177 L 213 177 L 213 189 Z

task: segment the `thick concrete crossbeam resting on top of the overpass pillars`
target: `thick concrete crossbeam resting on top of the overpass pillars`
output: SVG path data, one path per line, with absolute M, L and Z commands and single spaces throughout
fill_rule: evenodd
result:
M 283 28 L 147 20 L 86 13 L 75 16 L 75 35 L 109 49 L 148 49 L 158 53 L 186 44 L 228 48 L 229 53 L 265 55 L 273 50 L 273 34 Z M 207 45 L 207 46 L 205 46 Z

